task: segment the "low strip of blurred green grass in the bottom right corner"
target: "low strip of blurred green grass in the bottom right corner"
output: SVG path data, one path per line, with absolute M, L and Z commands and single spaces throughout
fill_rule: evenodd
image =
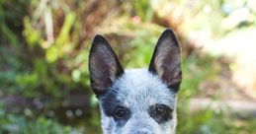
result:
M 229 114 L 217 110 L 201 110 L 187 112 L 189 109 L 180 109 L 177 133 L 193 134 L 253 134 L 256 121 L 254 119 L 234 118 Z

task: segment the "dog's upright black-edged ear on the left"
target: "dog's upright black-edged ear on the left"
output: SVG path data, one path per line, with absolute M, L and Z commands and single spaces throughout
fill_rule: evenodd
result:
M 93 39 L 89 54 L 91 87 L 97 97 L 104 94 L 122 74 L 119 59 L 108 40 L 102 35 Z

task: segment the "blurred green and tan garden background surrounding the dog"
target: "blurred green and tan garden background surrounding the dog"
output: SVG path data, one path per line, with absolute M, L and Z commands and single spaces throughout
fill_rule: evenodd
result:
M 246 75 L 229 54 L 241 55 L 237 38 L 255 48 L 255 26 L 255 0 L 0 0 L 0 134 L 101 133 L 88 76 L 93 36 L 139 68 L 165 28 L 183 48 L 177 133 L 256 134 L 256 69 Z

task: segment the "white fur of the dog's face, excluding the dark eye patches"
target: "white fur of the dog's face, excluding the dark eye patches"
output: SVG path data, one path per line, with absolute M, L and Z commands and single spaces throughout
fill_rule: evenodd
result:
M 131 111 L 131 117 L 122 128 L 116 125 L 113 117 L 102 111 L 102 127 L 105 134 L 131 134 L 136 129 L 149 129 L 153 134 L 174 134 L 177 125 L 176 94 L 167 88 L 160 78 L 146 69 L 127 70 L 112 88 L 118 88 L 117 97 L 124 100 L 124 106 Z M 159 125 L 147 113 L 150 105 L 166 104 L 174 109 L 173 119 Z M 111 129 L 111 130 L 110 130 Z

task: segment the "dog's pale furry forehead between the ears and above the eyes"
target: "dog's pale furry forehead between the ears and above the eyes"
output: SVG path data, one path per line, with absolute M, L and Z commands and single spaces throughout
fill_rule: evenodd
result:
M 127 70 L 110 90 L 112 97 L 127 107 L 148 108 L 156 103 L 175 107 L 176 94 L 145 69 Z

